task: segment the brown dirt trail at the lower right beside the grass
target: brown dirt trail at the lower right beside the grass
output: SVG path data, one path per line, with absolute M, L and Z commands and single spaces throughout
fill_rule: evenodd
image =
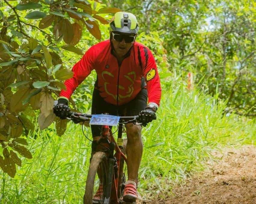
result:
M 175 187 L 174 196 L 162 194 L 138 204 L 256 204 L 256 146 L 213 155 L 220 159 L 208 161 L 208 170 Z

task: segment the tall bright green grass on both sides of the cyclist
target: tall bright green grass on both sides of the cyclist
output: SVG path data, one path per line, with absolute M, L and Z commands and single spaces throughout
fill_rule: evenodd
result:
M 168 191 L 202 170 L 213 149 L 256 144 L 255 119 L 225 115 L 217 96 L 187 91 L 182 82 L 163 89 L 157 121 L 143 128 L 141 195 Z M 89 128 L 85 132 L 91 137 Z M 1 173 L 1 203 L 82 203 L 91 145 L 81 126 L 69 123 L 58 137 L 52 125 L 30 133 L 28 142 L 33 159 L 23 158 L 14 179 Z

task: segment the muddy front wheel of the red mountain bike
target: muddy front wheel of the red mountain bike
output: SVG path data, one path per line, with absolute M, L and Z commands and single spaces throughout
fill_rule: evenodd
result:
M 90 163 L 85 186 L 84 204 L 102 204 L 107 180 L 107 157 L 96 152 Z

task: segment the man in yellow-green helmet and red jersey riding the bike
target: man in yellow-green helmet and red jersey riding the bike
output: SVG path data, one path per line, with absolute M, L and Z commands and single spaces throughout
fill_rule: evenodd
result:
M 143 125 L 156 119 L 161 97 L 159 74 L 151 51 L 135 42 L 138 30 L 132 13 L 114 15 L 110 22 L 110 39 L 89 48 L 72 68 L 74 75 L 65 81 L 66 90 L 61 90 L 54 108 L 56 116 L 66 117 L 73 91 L 95 69 L 97 79 L 91 114 L 140 115 Z M 126 125 L 128 181 L 123 196 L 126 202 L 137 199 L 137 175 L 143 151 L 141 129 L 141 125 Z M 91 125 L 93 143 L 100 139 L 100 130 L 99 125 Z

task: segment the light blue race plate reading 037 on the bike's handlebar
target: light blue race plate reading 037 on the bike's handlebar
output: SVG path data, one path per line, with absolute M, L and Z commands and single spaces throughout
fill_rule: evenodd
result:
M 92 115 L 90 120 L 90 125 L 109 125 L 109 126 L 117 126 L 119 122 L 119 116 L 111 116 L 111 115 Z

